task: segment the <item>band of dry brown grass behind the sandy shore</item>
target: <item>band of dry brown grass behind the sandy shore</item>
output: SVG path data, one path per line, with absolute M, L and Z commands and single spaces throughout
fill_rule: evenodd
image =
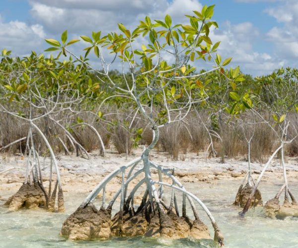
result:
M 136 135 L 136 128 L 143 127 L 144 132 L 142 134 L 142 140 L 140 144 L 148 145 L 152 141 L 152 131 L 150 126 L 146 126 L 146 122 L 142 121 L 140 116 L 137 116 L 131 128 L 128 128 L 134 112 L 133 110 L 117 110 L 107 108 L 105 113 L 114 113 L 113 115 L 107 115 L 104 120 L 97 120 L 94 115 L 90 113 L 80 114 L 79 118 L 88 124 L 91 124 L 101 135 L 106 148 L 109 148 L 110 142 L 113 143 L 118 153 L 131 153 L 133 150 L 133 139 Z M 160 140 L 157 144 L 157 149 L 161 148 L 163 151 L 168 152 L 173 159 L 185 159 L 188 151 L 194 151 L 197 154 L 200 151 L 205 151 L 210 143 L 209 135 L 202 124 L 202 121 L 206 124 L 207 128 L 212 128 L 211 123 L 208 123 L 208 114 L 200 113 L 202 120 L 195 113 L 185 119 L 183 123 L 173 123 L 166 125 L 160 129 Z M 269 120 L 267 114 L 263 114 L 265 120 Z M 61 124 L 65 127 L 69 127 L 69 130 L 74 135 L 74 138 L 87 150 L 92 151 L 100 148 L 99 140 L 93 130 L 87 126 L 73 125 L 77 122 L 78 115 L 74 113 L 61 113 L 56 116 L 56 120 L 61 120 Z M 298 130 L 298 115 L 297 113 L 291 113 L 288 115 L 291 121 L 291 126 L 288 131 L 288 139 L 294 137 Z M 222 157 L 238 157 L 247 156 L 247 143 L 243 137 L 243 131 L 239 123 L 229 122 L 227 124 L 228 117 L 221 121 L 219 130 L 222 141 L 213 136 L 215 149 L 218 155 Z M 111 124 L 111 123 L 114 124 Z M 73 147 L 69 143 L 68 139 L 62 128 L 55 125 L 52 121 L 42 119 L 36 124 L 45 133 L 49 139 L 50 144 L 54 148 L 56 153 L 64 152 L 64 148 L 59 141 L 60 137 L 68 146 L 70 151 L 73 151 Z M 247 125 L 246 128 L 253 128 L 253 125 Z M 252 130 L 247 130 L 251 132 Z M 13 142 L 21 137 L 27 136 L 28 124 L 20 121 L 20 119 L 6 114 L 0 114 L 0 145 Z M 264 162 L 270 156 L 273 149 L 277 145 L 277 137 L 274 131 L 265 123 L 255 124 L 255 133 L 251 141 L 251 160 Z M 48 155 L 48 150 L 39 137 L 34 135 L 34 142 L 38 151 L 43 155 Z M 11 146 L 6 149 L 5 152 L 10 153 L 23 153 L 25 150 L 25 141 Z M 294 140 L 291 144 L 286 146 L 286 154 L 288 156 L 298 156 L 298 139 Z

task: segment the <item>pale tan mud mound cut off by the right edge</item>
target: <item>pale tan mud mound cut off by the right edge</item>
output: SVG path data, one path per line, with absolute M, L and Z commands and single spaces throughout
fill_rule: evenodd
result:
M 266 215 L 271 218 L 284 218 L 287 216 L 298 217 L 298 205 L 285 201 L 280 205 L 279 199 L 273 198 L 266 202 L 264 206 Z

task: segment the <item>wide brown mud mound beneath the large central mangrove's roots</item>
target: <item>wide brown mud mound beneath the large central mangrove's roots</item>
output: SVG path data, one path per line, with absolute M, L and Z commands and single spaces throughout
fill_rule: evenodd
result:
M 61 235 L 71 240 L 94 240 L 111 237 L 163 237 L 210 239 L 208 227 L 200 220 L 179 217 L 174 212 L 131 209 L 118 212 L 111 220 L 110 211 L 93 205 L 77 209 L 64 223 Z

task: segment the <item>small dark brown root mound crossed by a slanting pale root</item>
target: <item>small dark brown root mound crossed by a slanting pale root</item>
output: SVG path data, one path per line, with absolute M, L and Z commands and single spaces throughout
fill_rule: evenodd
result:
M 233 205 L 244 207 L 253 187 L 246 184 L 244 187 L 241 185 L 235 197 Z M 250 207 L 263 206 L 262 195 L 259 189 L 256 190 L 254 197 L 252 198 Z

